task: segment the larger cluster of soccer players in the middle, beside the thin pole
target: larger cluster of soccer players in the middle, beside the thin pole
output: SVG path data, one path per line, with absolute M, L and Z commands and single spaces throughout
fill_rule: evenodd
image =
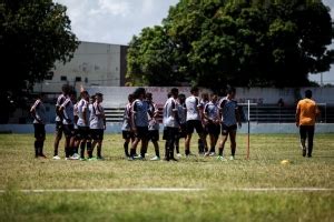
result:
M 199 153 L 204 155 L 215 155 L 216 144 L 220 134 L 222 140 L 218 148 L 218 160 L 226 160 L 223 155 L 225 142 L 230 139 L 232 155 L 235 159 L 236 131 L 237 125 L 242 127 L 240 112 L 237 102 L 234 100 L 236 91 L 234 88 L 227 90 L 227 95 L 218 100 L 217 94 L 204 93 L 199 99 L 198 88 L 191 88 L 191 95 L 186 98 L 179 94 L 177 88 L 173 88 L 168 93 L 163 111 L 163 124 L 165 143 L 165 160 L 177 161 L 180 158 L 179 140 L 185 138 L 185 155 L 193 155 L 190 152 L 190 141 L 194 130 L 198 133 Z M 128 160 L 145 160 L 149 141 L 155 147 L 155 157 L 150 160 L 160 160 L 159 147 L 159 122 L 158 108 L 153 101 L 153 94 L 147 93 L 144 88 L 138 88 L 128 95 L 122 123 L 122 138 L 125 140 L 125 155 Z M 207 145 L 207 134 L 209 135 L 209 149 Z M 140 142 L 140 154 L 137 154 L 137 147 Z M 130 149 L 129 149 L 130 148 Z

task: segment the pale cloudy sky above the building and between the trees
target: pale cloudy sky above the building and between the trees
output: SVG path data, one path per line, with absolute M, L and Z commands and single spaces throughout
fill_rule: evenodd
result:
M 53 0 L 67 6 L 73 33 L 80 41 L 128 44 L 145 27 L 161 24 L 170 6 L 179 0 Z M 323 0 L 334 20 L 334 0 Z M 332 47 L 334 49 L 334 44 Z M 334 84 L 334 65 L 323 83 Z M 311 80 L 321 81 L 321 74 Z

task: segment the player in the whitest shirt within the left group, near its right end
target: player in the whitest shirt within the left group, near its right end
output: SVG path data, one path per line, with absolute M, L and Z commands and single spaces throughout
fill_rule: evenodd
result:
M 89 139 L 89 93 L 87 91 L 81 91 L 81 100 L 77 103 L 78 109 L 78 145 L 80 145 L 80 160 L 85 160 L 85 148 L 87 140 Z M 88 149 L 87 149 L 88 150 Z

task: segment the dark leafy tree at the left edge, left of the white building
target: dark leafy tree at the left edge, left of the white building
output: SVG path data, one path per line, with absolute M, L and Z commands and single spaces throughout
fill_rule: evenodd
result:
M 0 64 L 6 79 L 0 81 L 0 98 L 21 98 L 57 60 L 72 58 L 79 42 L 66 10 L 52 0 L 0 0 Z

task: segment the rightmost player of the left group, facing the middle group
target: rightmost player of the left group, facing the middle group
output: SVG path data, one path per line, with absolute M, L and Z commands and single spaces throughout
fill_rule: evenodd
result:
M 97 92 L 95 94 L 95 103 L 92 104 L 91 114 L 90 114 L 90 131 L 91 131 L 91 150 L 88 151 L 88 158 L 92 159 L 92 151 L 97 145 L 97 160 L 104 160 L 101 152 L 102 152 L 102 141 L 104 141 L 104 131 L 106 130 L 106 115 L 104 107 L 101 102 L 104 101 L 104 94 Z

